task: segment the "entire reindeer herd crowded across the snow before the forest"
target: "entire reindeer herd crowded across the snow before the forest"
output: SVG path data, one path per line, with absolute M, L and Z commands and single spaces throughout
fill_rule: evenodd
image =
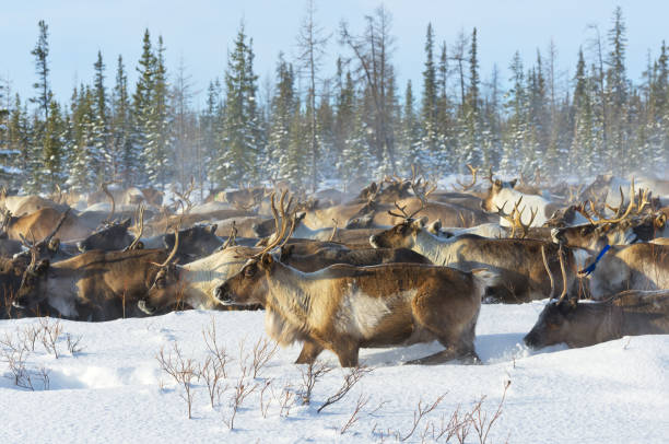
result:
M 356 195 L 285 186 L 212 192 L 104 184 L 87 196 L 0 192 L 3 318 L 265 309 L 296 363 L 322 350 L 437 340 L 411 361 L 479 362 L 481 303 L 549 297 L 527 346 L 669 334 L 669 180 L 503 182 L 468 165 L 451 190 L 386 177 Z M 556 279 L 560 277 L 561 279 Z M 558 297 L 553 297 L 560 293 Z

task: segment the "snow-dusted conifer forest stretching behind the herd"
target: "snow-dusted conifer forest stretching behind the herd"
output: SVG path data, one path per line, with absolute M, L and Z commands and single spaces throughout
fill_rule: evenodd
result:
M 120 55 L 111 62 L 114 79 L 106 79 L 98 51 L 91 83 L 77 85 L 69 98 L 55 97 L 48 24 L 40 21 L 31 52 L 34 95 L 13 94 L 9 79 L 0 89 L 0 180 L 31 192 L 56 184 L 85 191 L 108 180 L 165 188 L 191 177 L 209 189 L 268 179 L 313 188 L 327 179 L 351 186 L 403 175 L 411 164 L 438 175 L 467 163 L 528 176 L 540 168 L 553 178 L 666 168 L 665 43 L 635 84 L 626 73 L 622 10 L 613 11 L 606 33 L 589 31 L 572 49 L 578 61 L 564 87 L 552 42 L 531 66 L 516 52 L 507 70 L 494 68 L 483 82 L 477 28 L 447 44 L 427 24 L 420 87 L 409 81 L 400 96 L 388 10 L 377 8 L 361 30 L 342 22 L 327 34 L 309 1 L 298 55 L 279 55 L 266 97 L 242 24 L 225 72 L 196 109 L 187 69 L 181 62 L 167 72 L 165 44 L 149 30 L 134 85 Z M 340 48 L 334 69 L 324 66 L 332 39 Z

